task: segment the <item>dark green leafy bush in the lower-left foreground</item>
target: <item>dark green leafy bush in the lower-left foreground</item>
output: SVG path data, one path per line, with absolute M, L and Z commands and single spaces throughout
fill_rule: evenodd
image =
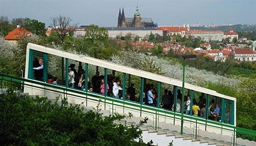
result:
M 58 99 L 58 98 L 57 98 Z M 102 117 L 99 108 L 84 113 L 80 105 L 59 105 L 46 98 L 14 92 L 0 95 L 0 143 L 3 146 L 144 146 L 138 125 L 115 124 L 123 115 Z M 132 116 L 132 115 L 131 115 Z M 140 139 L 140 143 L 135 142 Z

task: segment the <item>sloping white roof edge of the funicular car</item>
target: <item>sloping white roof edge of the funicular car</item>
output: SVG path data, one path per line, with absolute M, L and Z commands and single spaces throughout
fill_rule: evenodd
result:
M 149 73 L 149 72 L 139 70 L 139 69 L 135 69 L 135 68 L 126 67 L 126 66 L 123 66 L 123 65 L 107 62 L 107 61 L 96 59 L 96 58 L 93 58 L 93 57 L 80 56 L 80 55 L 77 55 L 77 54 L 72 54 L 72 53 L 69 53 L 69 52 L 64 52 L 64 51 L 60 51 L 60 50 L 49 48 L 49 47 L 43 47 L 43 46 L 33 44 L 33 43 L 28 43 L 27 44 L 27 50 L 28 49 L 36 50 L 36 51 L 39 51 L 39 52 L 45 52 L 45 53 L 48 53 L 48 54 L 53 54 L 53 55 L 56 55 L 56 56 L 73 59 L 73 60 L 80 61 L 80 62 L 83 62 L 83 63 L 96 65 L 96 66 L 99 66 L 99 67 L 102 67 L 102 68 L 108 68 L 108 69 L 112 69 L 112 70 L 119 71 L 119 72 L 122 72 L 122 73 L 128 73 L 128 74 L 132 74 L 132 75 L 135 75 L 135 76 L 156 80 L 156 81 L 159 81 L 161 83 L 168 83 L 168 84 L 172 84 L 172 85 L 175 85 L 175 86 L 178 86 L 178 87 L 182 87 L 182 81 L 181 80 L 178 80 L 178 79 L 175 79 L 175 78 L 170 78 L 170 77 L 165 77 L 165 76 L 155 74 L 155 73 Z M 189 84 L 189 83 L 185 83 L 185 88 L 186 89 L 191 89 L 191 90 L 194 90 L 194 91 L 197 91 L 197 92 L 201 92 L 201 93 L 221 97 L 221 98 L 224 98 L 224 99 L 229 99 L 229 100 L 232 100 L 232 101 L 236 101 L 236 99 L 233 98 L 233 97 L 226 96 L 226 95 L 223 95 L 223 94 L 219 94 L 214 90 L 206 89 L 206 88 L 199 87 L 199 86 L 196 86 L 196 85 L 192 85 L 192 84 Z

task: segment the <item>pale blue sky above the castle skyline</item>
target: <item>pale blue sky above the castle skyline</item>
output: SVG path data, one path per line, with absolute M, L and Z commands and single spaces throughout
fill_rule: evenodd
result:
M 50 26 L 62 15 L 77 26 L 117 26 L 119 8 L 133 17 L 139 6 L 142 17 L 160 26 L 183 24 L 256 24 L 256 0 L 0 0 L 0 16 L 31 18 Z

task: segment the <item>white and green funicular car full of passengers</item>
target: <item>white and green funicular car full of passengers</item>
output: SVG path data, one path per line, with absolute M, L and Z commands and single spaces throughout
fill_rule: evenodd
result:
M 39 59 L 43 60 L 41 70 Z M 153 127 L 158 128 L 165 122 L 181 127 L 181 134 L 186 133 L 184 127 L 187 127 L 194 131 L 194 136 L 199 130 L 235 135 L 232 128 L 236 125 L 235 98 L 189 83 L 185 83 L 186 96 L 182 96 L 182 81 L 174 78 L 32 43 L 27 45 L 25 78 L 33 81 L 27 83 L 31 86 L 24 87 L 24 92 L 32 95 L 59 96 L 86 107 L 100 103 L 109 114 L 131 112 L 134 116 L 147 116 L 153 121 Z M 57 81 L 53 83 L 53 80 Z M 154 99 L 149 101 L 151 93 Z M 181 98 L 187 96 L 190 96 L 188 106 L 186 99 L 181 103 Z M 193 112 L 196 104 L 193 102 L 201 109 L 197 115 Z

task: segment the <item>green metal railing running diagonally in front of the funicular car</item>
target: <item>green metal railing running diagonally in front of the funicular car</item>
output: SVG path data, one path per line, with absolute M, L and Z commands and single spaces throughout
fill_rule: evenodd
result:
M 152 124 L 152 127 L 154 127 L 154 129 L 159 128 L 160 117 L 165 117 L 166 119 L 173 120 L 174 121 L 173 125 L 176 125 L 175 123 L 178 123 L 178 121 L 181 121 L 181 119 L 183 119 L 184 122 L 189 122 L 189 123 L 192 123 L 192 125 L 194 125 L 194 127 L 192 127 L 194 130 L 193 137 L 196 139 L 198 138 L 198 136 L 200 137 L 199 125 L 201 126 L 203 125 L 206 131 L 207 131 L 207 128 L 216 128 L 219 130 L 229 131 L 233 133 L 231 137 L 232 140 L 230 140 L 229 142 L 229 144 L 232 146 L 237 145 L 237 142 L 236 142 L 237 136 L 240 136 L 243 138 L 249 137 L 248 139 L 256 141 L 256 131 L 254 130 L 248 130 L 248 129 L 236 127 L 234 125 L 219 123 L 213 120 L 205 120 L 205 119 L 190 116 L 190 115 L 181 115 L 180 113 L 176 113 L 169 110 L 163 110 L 163 109 L 160 109 L 159 107 L 151 107 L 147 105 L 141 105 L 135 102 L 127 102 L 125 100 L 109 98 L 109 97 L 105 97 L 105 96 L 90 93 L 90 92 L 85 92 L 77 89 L 70 89 L 64 86 L 50 84 L 50 83 L 43 83 L 43 82 L 31 80 L 31 79 L 17 78 L 17 77 L 9 76 L 6 74 L 0 74 L 0 80 L 1 80 L 0 90 L 3 90 L 3 88 L 7 88 L 10 86 L 16 87 L 19 90 L 21 90 L 22 89 L 21 87 L 24 87 L 24 86 L 30 87 L 30 88 L 36 87 L 37 89 L 48 90 L 49 92 L 54 92 L 59 94 L 65 94 L 66 96 L 73 95 L 76 97 L 84 98 L 86 102 L 87 100 L 94 100 L 97 102 L 101 102 L 102 104 L 105 104 L 104 106 L 105 108 L 106 108 L 106 104 L 108 104 L 111 106 L 118 106 L 123 109 L 137 111 L 140 113 L 140 115 L 142 115 L 142 113 L 144 114 L 146 113 L 154 117 L 153 124 Z M 32 85 L 31 83 L 35 85 Z M 38 85 L 43 85 L 43 87 L 50 87 L 52 89 L 46 89 Z M 59 89 L 59 91 L 56 89 Z M 77 95 L 77 94 L 80 94 L 80 95 Z M 112 108 L 112 113 L 114 113 L 113 108 Z

